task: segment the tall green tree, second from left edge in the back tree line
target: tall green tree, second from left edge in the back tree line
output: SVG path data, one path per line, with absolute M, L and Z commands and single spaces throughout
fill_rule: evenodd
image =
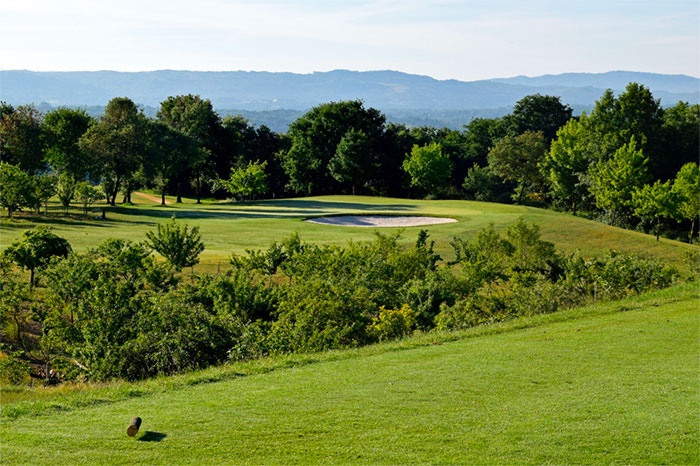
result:
M 67 107 L 44 115 L 41 125 L 44 157 L 55 171 L 85 179 L 91 169 L 90 159 L 78 143 L 94 121 L 85 110 Z

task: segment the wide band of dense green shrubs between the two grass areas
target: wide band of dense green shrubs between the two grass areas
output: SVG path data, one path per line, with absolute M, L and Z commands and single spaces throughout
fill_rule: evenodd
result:
M 400 232 L 344 245 L 294 234 L 232 254 L 232 268 L 215 275 L 177 274 L 204 246 L 198 227 L 175 219 L 141 238 L 147 242 L 107 239 L 68 257 L 36 246 L 55 239 L 30 230 L 0 256 L 3 325 L 48 381 L 141 379 L 552 313 L 663 288 L 679 276 L 631 254 L 564 254 L 539 226 L 511 222 L 503 233 L 489 225 L 453 238 L 448 262 L 425 230 L 410 246 Z M 15 256 L 23 248 L 33 262 Z M 29 295 L 10 261 L 40 267 L 48 286 Z M 30 335 L 36 326 L 41 334 Z

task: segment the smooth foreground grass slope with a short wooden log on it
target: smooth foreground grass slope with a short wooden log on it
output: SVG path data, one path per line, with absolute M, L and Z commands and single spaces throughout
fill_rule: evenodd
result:
M 135 398 L 107 387 L 87 407 L 59 397 L 4 417 L 2 460 L 698 464 L 698 317 L 683 285 L 247 377 L 242 364 L 205 371 L 217 382 L 148 381 Z

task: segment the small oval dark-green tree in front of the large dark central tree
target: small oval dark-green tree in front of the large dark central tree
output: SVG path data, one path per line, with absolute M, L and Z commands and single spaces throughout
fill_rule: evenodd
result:
M 353 195 L 356 187 L 364 187 L 376 170 L 372 144 L 365 133 L 348 131 L 338 143 L 328 169 L 339 183 L 352 186 Z

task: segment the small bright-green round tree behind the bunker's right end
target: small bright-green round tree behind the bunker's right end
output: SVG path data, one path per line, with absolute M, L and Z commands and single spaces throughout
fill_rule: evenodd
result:
M 411 176 L 411 186 L 432 194 L 449 184 L 452 162 L 438 143 L 414 145 L 403 162 L 403 169 Z

